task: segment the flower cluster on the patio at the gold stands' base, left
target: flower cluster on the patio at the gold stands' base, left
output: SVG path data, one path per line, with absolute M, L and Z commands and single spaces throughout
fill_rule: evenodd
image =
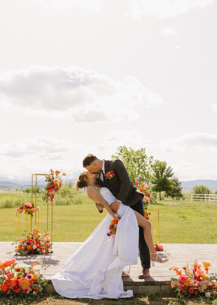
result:
M 27 238 L 22 236 L 18 237 L 18 246 L 15 247 L 15 255 L 20 253 L 21 255 L 27 254 L 47 254 L 53 253 L 49 250 L 49 244 L 51 237 L 50 232 L 45 232 L 41 235 L 39 229 L 33 229 L 31 233 L 27 235 Z M 24 234 L 25 235 L 25 234 Z M 12 243 L 14 245 L 15 242 Z

